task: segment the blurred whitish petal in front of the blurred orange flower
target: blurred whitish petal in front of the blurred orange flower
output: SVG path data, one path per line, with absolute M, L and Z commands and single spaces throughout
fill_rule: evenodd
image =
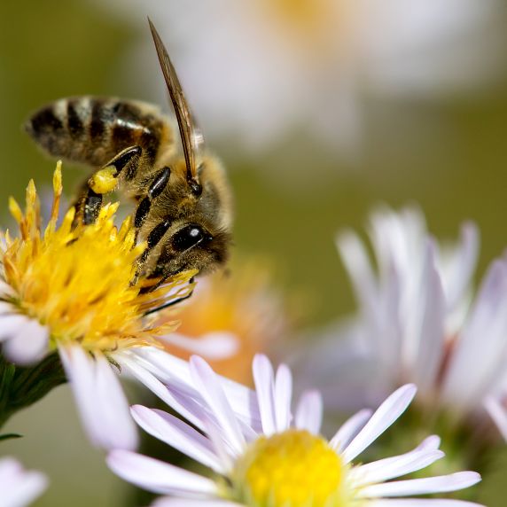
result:
M 188 337 L 173 332 L 159 338 L 170 345 L 183 348 L 192 354 L 201 355 L 212 361 L 226 359 L 237 354 L 239 349 L 238 337 L 229 331 L 207 332 L 199 337 Z

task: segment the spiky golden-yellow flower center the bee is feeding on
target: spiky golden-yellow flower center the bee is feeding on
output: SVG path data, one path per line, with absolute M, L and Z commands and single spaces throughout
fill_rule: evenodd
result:
M 60 164 L 53 189 L 51 219 L 45 230 L 33 181 L 27 187 L 24 213 L 10 200 L 20 236 L 12 238 L 6 232 L 0 238 L 0 275 L 11 289 L 0 293 L 0 299 L 47 325 L 53 347 L 56 340 L 79 340 L 90 351 L 105 352 L 158 345 L 156 336 L 173 331 L 177 323 L 160 314 L 145 315 L 160 303 L 188 293 L 188 281 L 195 273 L 184 273 L 153 292 L 141 293 L 148 280 L 133 280 L 136 259 L 145 246 L 136 245 L 130 218 L 118 230 L 113 222 L 118 204 L 111 204 L 101 209 L 96 223 L 76 227 L 71 208 L 57 227 Z

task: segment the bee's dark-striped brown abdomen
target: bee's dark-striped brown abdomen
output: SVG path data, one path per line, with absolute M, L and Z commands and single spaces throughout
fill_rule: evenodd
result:
M 172 142 L 155 107 L 116 98 L 58 100 L 36 112 L 27 131 L 51 155 L 94 167 L 135 145 L 143 148 L 143 163 L 152 166 L 161 145 Z

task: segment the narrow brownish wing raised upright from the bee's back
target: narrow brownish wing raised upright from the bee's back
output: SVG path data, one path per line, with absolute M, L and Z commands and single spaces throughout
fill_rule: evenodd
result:
M 180 136 L 183 144 L 183 154 L 187 168 L 187 179 L 199 183 L 196 155 L 202 151 L 204 137 L 191 115 L 190 108 L 183 95 L 182 86 L 176 75 L 175 67 L 169 58 L 168 51 L 160 39 L 157 29 L 152 20 L 148 19 L 152 30 L 153 42 L 160 61 L 160 67 L 168 87 L 169 97 L 175 108 L 176 120 L 180 129 Z

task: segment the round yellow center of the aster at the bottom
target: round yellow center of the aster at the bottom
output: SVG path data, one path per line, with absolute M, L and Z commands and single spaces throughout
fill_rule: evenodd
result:
M 252 507 L 342 507 L 344 465 L 323 438 L 287 430 L 254 441 L 238 460 L 233 487 Z

